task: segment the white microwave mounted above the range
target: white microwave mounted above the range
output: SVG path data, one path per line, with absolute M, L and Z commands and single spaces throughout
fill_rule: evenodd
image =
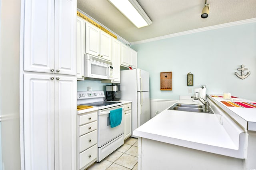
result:
M 84 75 L 86 79 L 114 80 L 113 66 L 103 62 L 84 58 Z

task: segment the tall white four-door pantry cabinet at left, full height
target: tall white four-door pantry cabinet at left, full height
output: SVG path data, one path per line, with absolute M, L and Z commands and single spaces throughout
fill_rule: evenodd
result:
M 22 169 L 75 170 L 76 0 L 23 0 L 21 13 Z

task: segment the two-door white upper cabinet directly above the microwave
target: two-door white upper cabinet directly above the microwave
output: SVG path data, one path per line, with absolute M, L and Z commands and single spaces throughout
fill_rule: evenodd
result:
M 86 53 L 112 62 L 112 37 L 86 23 Z

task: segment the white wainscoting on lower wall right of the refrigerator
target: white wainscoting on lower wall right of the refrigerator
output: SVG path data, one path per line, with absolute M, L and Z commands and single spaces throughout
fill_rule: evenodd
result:
M 150 119 L 177 101 L 178 100 L 150 99 Z

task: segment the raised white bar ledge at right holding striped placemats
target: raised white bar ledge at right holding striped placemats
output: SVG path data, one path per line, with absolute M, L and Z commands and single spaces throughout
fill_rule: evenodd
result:
M 222 97 L 212 97 L 222 95 L 208 95 L 218 106 L 225 110 L 232 118 L 240 123 L 245 129 L 256 131 L 256 108 L 242 108 L 242 107 L 228 107 L 221 101 L 225 102 L 249 102 L 256 103 L 255 101 L 246 100 L 242 98 L 234 98 L 234 100 L 226 100 Z

